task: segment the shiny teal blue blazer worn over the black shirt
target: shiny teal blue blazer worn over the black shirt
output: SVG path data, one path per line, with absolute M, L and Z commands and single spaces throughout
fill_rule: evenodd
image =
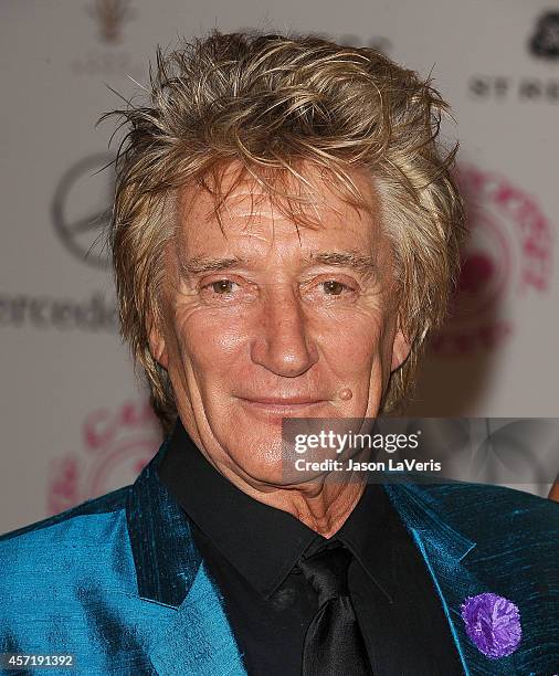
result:
M 134 485 L 0 538 L 0 653 L 73 654 L 75 664 L 1 673 L 245 674 L 220 590 L 158 479 L 166 448 Z M 558 674 L 559 507 L 474 484 L 386 490 L 433 578 L 464 674 Z M 519 609 L 523 640 L 507 657 L 486 657 L 466 635 L 461 605 L 483 592 Z

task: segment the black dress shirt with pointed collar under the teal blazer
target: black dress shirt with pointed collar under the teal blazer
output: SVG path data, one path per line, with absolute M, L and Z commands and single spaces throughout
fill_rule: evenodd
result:
M 296 564 L 334 540 L 354 554 L 348 584 L 373 674 L 464 674 L 423 558 L 381 485 L 366 486 L 327 540 L 238 489 L 200 453 L 180 420 L 159 477 L 192 524 L 250 675 L 300 675 L 305 633 L 318 609 Z

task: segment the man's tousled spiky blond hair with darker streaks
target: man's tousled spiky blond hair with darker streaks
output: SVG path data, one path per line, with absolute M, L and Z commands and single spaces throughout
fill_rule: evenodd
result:
M 128 133 L 116 160 L 110 229 L 122 335 L 147 376 L 165 430 L 177 409 L 168 374 L 150 353 L 149 321 L 160 318 L 164 253 L 177 222 L 177 191 L 189 182 L 224 197 L 231 162 L 256 178 L 280 209 L 286 177 L 314 162 L 356 205 L 351 170 L 371 172 L 394 256 L 400 326 L 412 342 L 392 373 L 388 411 L 409 389 L 425 335 L 445 314 L 458 266 L 463 209 L 450 170 L 456 148 L 439 147 L 447 104 L 418 75 L 371 49 L 315 36 L 222 34 L 181 43 L 150 71 L 150 102 L 109 115 Z

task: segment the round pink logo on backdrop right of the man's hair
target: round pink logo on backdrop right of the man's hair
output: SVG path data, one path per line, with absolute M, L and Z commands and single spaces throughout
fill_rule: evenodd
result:
M 450 319 L 431 339 L 436 355 L 497 347 L 514 331 L 511 304 L 545 293 L 552 272 L 552 230 L 529 194 L 503 176 L 462 167 L 458 183 L 470 236 Z

